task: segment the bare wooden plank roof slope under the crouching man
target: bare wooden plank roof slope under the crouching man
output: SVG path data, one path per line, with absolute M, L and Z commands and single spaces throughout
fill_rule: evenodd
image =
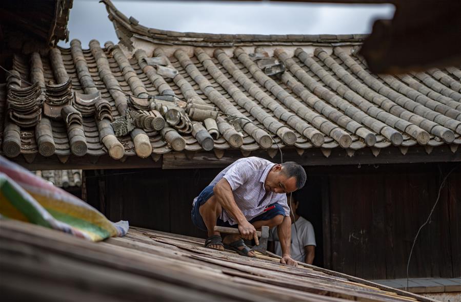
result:
M 183 235 L 130 227 L 122 238 L 94 243 L 17 221 L 0 226 L 7 299 L 434 301 L 272 256 L 211 250 Z

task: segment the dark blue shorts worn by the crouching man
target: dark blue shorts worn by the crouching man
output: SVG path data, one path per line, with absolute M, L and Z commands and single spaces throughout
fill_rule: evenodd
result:
M 198 195 L 197 201 L 195 202 L 195 204 L 192 205 L 192 211 L 191 211 L 192 222 L 197 228 L 203 231 L 206 231 L 207 227 L 205 226 L 205 223 L 202 219 L 202 215 L 200 214 L 198 209 L 200 208 L 201 205 L 203 205 L 207 200 L 209 200 L 214 195 L 213 188 L 214 186 L 205 187 L 205 189 L 203 189 L 203 191 Z M 270 220 L 274 218 L 276 215 L 285 215 L 285 210 L 281 205 L 279 205 L 278 203 L 274 203 L 274 204 L 269 205 L 268 208 L 272 206 L 274 206 L 274 208 L 269 209 L 263 212 L 262 214 L 257 215 L 255 218 L 253 218 L 249 222 L 253 223 L 255 221 L 260 221 L 260 220 Z M 237 224 L 231 225 L 229 222 L 227 221 L 224 222 L 223 220 L 219 218 L 216 221 L 216 225 L 224 226 L 224 227 L 234 227 L 234 228 L 238 226 Z

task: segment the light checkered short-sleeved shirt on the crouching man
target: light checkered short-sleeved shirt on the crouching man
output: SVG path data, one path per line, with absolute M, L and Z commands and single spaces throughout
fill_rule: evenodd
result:
M 263 210 L 273 203 L 280 204 L 285 209 L 285 216 L 289 216 L 290 207 L 287 204 L 286 195 L 271 191 L 266 192 L 264 188 L 267 175 L 274 165 L 274 163 L 258 157 L 242 158 L 222 170 L 210 185 L 214 186 L 222 178 L 225 178 L 232 188 L 235 203 L 247 220 L 262 214 Z M 196 201 L 197 198 L 194 199 L 194 203 Z M 236 224 L 224 208 L 219 218 L 228 221 L 231 225 Z

